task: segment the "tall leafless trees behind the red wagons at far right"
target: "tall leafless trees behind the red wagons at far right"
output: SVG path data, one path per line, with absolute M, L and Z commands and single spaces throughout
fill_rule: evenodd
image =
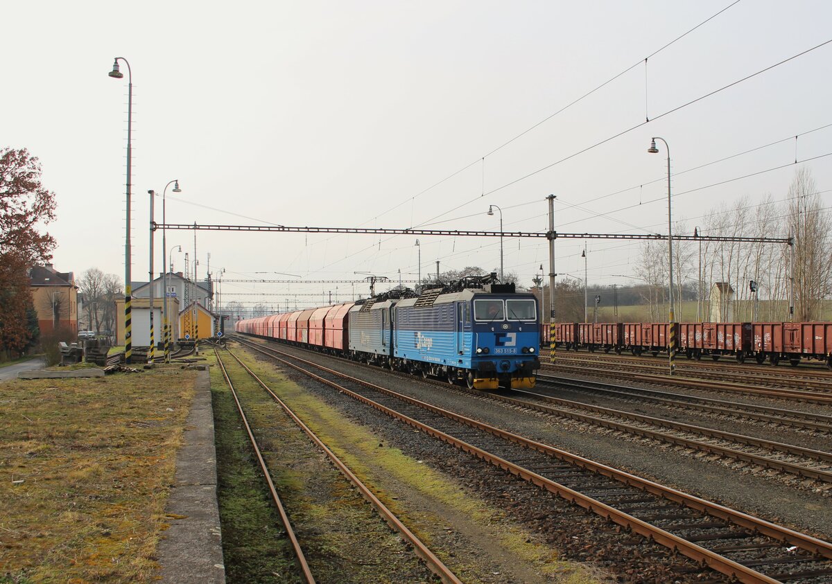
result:
M 674 226 L 676 234 L 693 235 L 684 222 Z M 745 242 L 674 241 L 673 271 L 676 288 L 676 319 L 693 319 L 682 314 L 683 288 L 698 290 L 696 298 L 701 316 L 711 314 L 711 290 L 717 282 L 733 289 L 721 297 L 720 314 L 733 313 L 735 320 L 753 318 L 754 294 L 760 294 L 759 320 L 789 320 L 791 279 L 794 279 L 795 320 L 821 318 L 824 299 L 832 294 L 832 214 L 824 208 L 811 173 L 806 168 L 795 172 L 785 200 L 777 202 L 766 195 L 759 202 L 749 197 L 733 205 L 711 210 L 698 225 L 697 235 L 794 238 L 789 245 Z M 649 286 L 647 300 L 653 319 L 667 314 L 667 245 L 649 241 L 641 247 L 636 274 Z M 750 290 L 754 280 L 757 291 Z M 701 282 L 701 287 L 700 287 Z M 728 303 L 731 303 L 729 306 Z M 730 308 L 730 310 L 729 310 Z

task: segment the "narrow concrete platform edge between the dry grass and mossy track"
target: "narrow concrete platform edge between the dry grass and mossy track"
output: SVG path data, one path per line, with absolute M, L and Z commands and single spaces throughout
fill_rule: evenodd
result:
M 165 510 L 170 528 L 156 550 L 161 582 L 225 582 L 216 502 L 214 413 L 210 377 L 201 371 L 186 420 L 182 447 L 176 453 L 176 477 Z

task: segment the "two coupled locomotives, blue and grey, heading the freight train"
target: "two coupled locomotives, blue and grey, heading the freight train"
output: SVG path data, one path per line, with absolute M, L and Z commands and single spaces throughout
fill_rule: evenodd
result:
M 540 367 L 537 299 L 496 275 L 397 292 L 349 310 L 355 359 L 469 388 L 531 389 Z

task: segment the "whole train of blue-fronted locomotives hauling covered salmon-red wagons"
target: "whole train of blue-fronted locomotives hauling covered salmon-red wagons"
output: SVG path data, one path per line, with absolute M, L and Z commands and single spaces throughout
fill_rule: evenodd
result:
M 537 299 L 496 274 L 240 320 L 235 331 L 470 389 L 532 389 L 540 368 Z

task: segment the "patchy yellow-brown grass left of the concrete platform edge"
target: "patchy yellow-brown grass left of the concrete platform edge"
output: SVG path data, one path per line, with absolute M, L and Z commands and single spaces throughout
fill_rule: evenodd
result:
M 193 372 L 0 384 L 0 582 L 150 582 Z

